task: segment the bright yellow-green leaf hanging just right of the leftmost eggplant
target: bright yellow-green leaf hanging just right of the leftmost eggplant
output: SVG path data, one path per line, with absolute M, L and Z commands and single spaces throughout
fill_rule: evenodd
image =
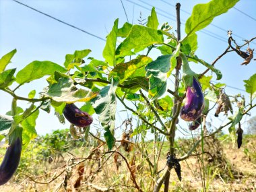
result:
M 34 107 L 35 109 L 36 107 Z M 35 113 L 33 113 L 32 115 L 30 115 L 29 117 L 27 117 L 26 119 L 24 119 L 24 121 L 22 121 L 22 127 L 23 127 L 23 131 L 22 131 L 22 143 L 24 146 L 27 146 L 28 143 L 36 138 L 37 133 L 36 133 L 36 119 L 39 115 L 39 110 L 36 110 Z

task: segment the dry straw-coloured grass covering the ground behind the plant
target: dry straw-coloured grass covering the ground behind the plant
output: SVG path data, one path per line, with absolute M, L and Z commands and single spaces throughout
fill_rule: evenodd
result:
M 213 143 L 214 142 L 214 143 Z M 187 143 L 185 142 L 187 145 Z M 207 145 L 216 145 L 216 141 L 205 141 L 205 150 Z M 182 181 L 177 179 L 177 174 L 174 170 L 171 170 L 170 174 L 170 191 L 202 191 L 202 179 L 200 172 L 205 170 L 205 187 L 206 191 L 256 191 L 256 159 L 253 154 L 256 154 L 256 137 L 248 137 L 243 140 L 243 146 L 241 149 L 233 148 L 233 144 L 230 141 L 220 141 L 220 147 L 212 146 L 210 153 L 217 153 L 220 151 L 221 156 L 214 156 L 214 160 L 210 160 L 211 156 L 204 154 L 204 164 L 202 165 L 202 157 L 197 158 L 193 156 L 186 161 L 181 162 L 182 168 Z M 251 154 L 247 156 L 243 151 L 245 147 L 249 149 Z M 216 148 L 216 149 L 215 149 Z M 215 149 L 215 150 L 214 150 Z M 197 149 L 199 152 L 200 147 Z M 123 152 L 123 151 L 122 151 Z M 75 156 L 79 156 L 79 151 L 73 151 Z M 154 185 L 154 179 L 151 177 L 148 164 L 145 159 L 141 158 L 139 154 L 135 154 L 135 164 L 131 164 L 133 158 L 132 152 L 127 156 L 126 152 L 123 152 L 129 160 L 131 168 L 134 168 L 134 173 L 138 185 L 143 191 L 152 191 Z M 166 152 L 163 150 L 160 162 L 158 164 L 158 170 L 164 168 L 166 164 L 165 158 Z M 88 154 L 84 154 L 87 156 Z M 65 160 L 70 156 L 65 154 Z M 85 170 L 82 175 L 82 182 L 79 190 L 74 189 L 75 182 L 79 178 L 79 172 L 77 169 L 71 171 L 71 175 L 67 180 L 67 191 L 137 191 L 131 181 L 130 172 L 127 169 L 125 162 L 119 157 L 117 162 L 119 168 L 113 156 L 99 169 L 105 158 L 100 160 L 100 164 L 95 160 L 87 160 L 85 162 Z M 150 159 L 153 160 L 152 153 Z M 49 168 L 45 172 L 55 168 L 61 167 L 65 164 L 65 161 L 59 161 L 57 164 L 48 165 Z M 77 168 L 78 166 L 76 166 Z M 203 167 L 203 168 L 202 168 Z M 38 166 L 35 168 L 42 168 Z M 57 172 L 61 172 L 63 168 L 57 169 Z M 201 171 L 200 171 L 201 170 Z M 161 174 L 161 173 L 160 173 Z M 36 176 L 34 176 L 35 178 Z M 45 177 L 38 178 L 37 181 L 49 181 L 53 177 L 53 173 L 46 175 Z M 11 179 L 9 183 L 0 187 L 0 191 L 56 191 L 60 184 L 64 181 L 65 174 L 61 177 L 49 183 L 48 185 L 42 185 L 32 182 L 30 179 L 20 174 L 18 177 Z M 17 183 L 15 183 L 17 182 Z M 98 189 L 97 189 L 98 187 Z M 161 189 L 163 191 L 163 188 Z M 59 191 L 65 191 L 61 186 Z

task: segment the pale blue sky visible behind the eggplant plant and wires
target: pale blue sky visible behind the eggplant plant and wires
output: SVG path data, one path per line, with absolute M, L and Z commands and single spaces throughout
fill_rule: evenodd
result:
M 189 18 L 188 13 L 191 13 L 193 6 L 197 3 L 207 2 L 185 0 L 164 1 L 172 5 L 175 5 L 177 2 L 181 3 L 181 9 L 183 10 L 181 11 L 181 36 L 184 36 L 185 26 L 183 24 L 185 24 L 185 20 Z M 129 22 L 133 22 L 133 24 L 138 24 L 137 19 L 139 19 L 140 13 L 143 18 L 148 18 L 150 9 L 152 9 L 151 5 L 154 5 L 156 12 L 159 13 L 159 23 L 168 22 L 171 26 L 174 26 L 175 30 L 176 23 L 174 22 L 174 15 L 176 10 L 164 1 L 123 0 L 123 5 L 127 11 Z M 127 22 L 125 11 L 119 0 L 20 0 L 20 2 L 52 15 L 59 20 L 72 24 L 73 26 L 82 28 L 101 38 L 105 38 L 108 32 L 110 32 L 115 19 L 119 18 L 119 27 Z M 252 19 L 256 18 L 256 1 L 239 1 L 235 7 L 236 9 L 232 8 L 228 13 L 224 13 L 214 19 L 212 24 L 218 26 L 218 28 L 210 25 L 205 28 L 207 31 L 204 31 L 204 33 L 197 32 L 199 46 L 197 56 L 199 58 L 204 59 L 208 63 L 212 63 L 212 61 L 226 49 L 228 46 L 228 36 L 224 30 L 232 30 L 234 34 L 243 37 L 243 39 L 251 39 L 256 36 L 256 21 Z M 251 15 L 252 18 L 249 18 L 237 9 Z M 205 33 L 211 33 L 211 36 L 207 36 Z M 217 36 L 217 38 L 212 36 Z M 238 42 L 238 44 L 243 43 L 242 38 L 237 36 L 233 36 L 236 42 Z M 222 40 L 220 40 L 220 38 Z M 34 60 L 53 61 L 62 65 L 67 53 L 73 53 L 75 50 L 82 49 L 91 49 L 92 53 L 90 53 L 90 57 L 104 60 L 102 57 L 104 44 L 105 42 L 103 40 L 71 28 L 61 22 L 57 22 L 15 1 L 0 1 L 0 56 L 5 55 L 13 49 L 17 49 L 17 53 L 13 57 L 12 63 L 8 65 L 8 68 L 17 67 L 18 70 L 20 70 Z M 255 44 L 251 44 L 251 47 L 255 48 Z M 160 55 L 160 53 L 158 54 Z M 159 56 L 158 54 L 154 53 L 150 55 L 150 57 L 156 59 L 156 57 Z M 220 59 L 220 61 L 216 63 L 216 67 L 223 73 L 223 78 L 220 82 L 225 82 L 228 86 L 245 90 L 243 79 L 248 79 L 253 73 L 256 73 L 256 68 L 255 61 L 252 61 L 247 66 L 241 66 L 240 64 L 242 62 L 243 59 L 238 57 L 236 53 L 230 53 L 223 59 Z M 195 64 L 193 66 L 195 66 L 195 71 L 197 72 L 205 69 L 200 65 Z M 215 75 L 214 78 L 216 78 Z M 22 86 L 22 88 L 17 91 L 17 94 L 27 96 L 28 92 L 36 90 L 36 96 L 38 96 L 38 92 L 40 92 L 40 89 L 44 86 L 47 86 L 44 79 L 36 80 L 31 84 Z M 241 91 L 226 88 L 226 92 L 228 94 L 237 94 Z M 241 92 L 241 94 L 245 93 Z M 0 92 L 0 97 L 0 114 L 5 114 L 6 111 L 11 108 L 11 97 L 3 92 Z M 19 104 L 24 107 L 28 106 L 26 102 L 19 102 Z M 117 118 L 119 118 L 119 116 L 117 116 Z M 39 134 L 43 134 L 49 133 L 53 129 L 61 129 L 67 126 L 68 125 L 60 125 L 57 118 L 53 117 L 53 113 L 48 115 L 42 111 L 38 117 L 36 130 Z

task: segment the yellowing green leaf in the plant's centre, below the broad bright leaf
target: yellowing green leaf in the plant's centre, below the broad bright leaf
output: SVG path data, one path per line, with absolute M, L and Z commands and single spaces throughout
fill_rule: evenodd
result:
M 115 68 L 110 71 L 109 77 L 118 76 L 120 78 L 120 84 L 125 81 L 128 77 L 133 75 L 137 69 L 144 67 L 150 63 L 152 59 L 145 55 L 140 55 L 137 59 L 132 59 L 127 63 L 119 63 Z

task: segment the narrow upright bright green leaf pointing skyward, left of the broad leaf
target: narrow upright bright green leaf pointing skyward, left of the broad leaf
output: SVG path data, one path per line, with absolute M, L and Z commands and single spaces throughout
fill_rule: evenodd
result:
M 106 38 L 106 45 L 103 50 L 103 57 L 110 66 L 115 66 L 115 51 L 117 44 L 118 19 L 115 20 L 114 26 L 110 34 Z

